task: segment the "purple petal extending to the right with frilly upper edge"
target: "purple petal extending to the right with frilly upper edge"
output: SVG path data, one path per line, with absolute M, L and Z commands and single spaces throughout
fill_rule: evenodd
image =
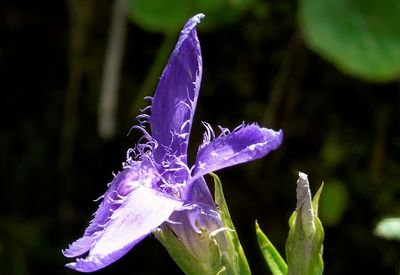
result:
M 193 179 L 210 172 L 261 158 L 277 149 L 283 139 L 282 131 L 261 128 L 256 124 L 206 141 L 197 153 Z

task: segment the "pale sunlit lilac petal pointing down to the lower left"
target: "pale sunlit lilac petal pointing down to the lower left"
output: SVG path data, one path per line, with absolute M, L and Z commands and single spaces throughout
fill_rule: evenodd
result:
M 136 186 L 111 215 L 104 231 L 92 244 L 84 259 L 69 263 L 69 268 L 92 272 L 125 255 L 135 244 L 165 222 L 182 201 L 143 185 Z

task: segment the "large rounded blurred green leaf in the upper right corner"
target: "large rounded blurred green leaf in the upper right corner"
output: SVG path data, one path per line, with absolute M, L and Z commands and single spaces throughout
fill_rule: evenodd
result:
M 370 81 L 400 76 L 400 1 L 301 0 L 307 45 L 342 71 Z

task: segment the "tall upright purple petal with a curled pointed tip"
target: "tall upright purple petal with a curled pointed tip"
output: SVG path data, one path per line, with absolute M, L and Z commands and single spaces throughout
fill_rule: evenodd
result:
M 203 14 L 192 17 L 182 29 L 153 98 L 150 125 L 152 136 L 159 145 L 154 152 L 157 163 L 163 160 L 166 148 L 186 161 L 202 75 L 200 43 L 195 27 L 203 17 Z

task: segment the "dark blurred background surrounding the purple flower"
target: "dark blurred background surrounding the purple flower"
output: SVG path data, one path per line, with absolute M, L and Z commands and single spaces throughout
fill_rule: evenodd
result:
M 325 182 L 325 273 L 396 274 L 399 243 L 373 229 L 400 213 L 399 83 L 343 74 L 305 46 L 296 2 L 265 4 L 265 14 L 259 5 L 223 27 L 199 27 L 204 74 L 191 158 L 202 139 L 200 121 L 282 128 L 277 151 L 218 173 L 254 274 L 266 270 L 254 221 L 284 254 L 298 171 L 309 175 L 313 192 Z M 118 127 L 104 140 L 97 105 L 111 2 L 82 1 L 79 9 L 90 15 L 80 23 L 73 5 L 0 3 L 0 274 L 74 274 L 61 249 L 83 233 L 98 205 L 93 200 L 139 138 L 127 135 L 139 114 L 132 105 L 142 101 L 137 91 L 164 36 L 128 24 Z M 180 272 L 151 236 L 98 274 L 167 270 Z

